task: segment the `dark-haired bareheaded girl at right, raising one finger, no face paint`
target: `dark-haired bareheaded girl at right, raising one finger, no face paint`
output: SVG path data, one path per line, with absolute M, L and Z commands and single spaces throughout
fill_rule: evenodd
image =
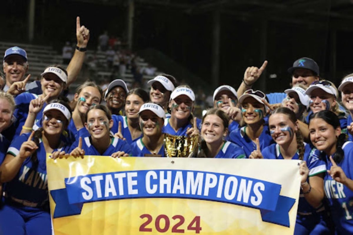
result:
M 325 194 L 336 234 L 353 233 L 353 143 L 341 133 L 340 121 L 328 110 L 315 113 L 309 123 L 311 143 L 322 152 L 327 173 Z

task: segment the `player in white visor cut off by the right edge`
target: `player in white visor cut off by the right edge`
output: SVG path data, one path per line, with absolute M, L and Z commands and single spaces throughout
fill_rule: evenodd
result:
M 348 140 L 353 141 L 353 73 L 343 78 L 338 90 L 341 91 L 343 105 L 349 111 L 347 118 Z

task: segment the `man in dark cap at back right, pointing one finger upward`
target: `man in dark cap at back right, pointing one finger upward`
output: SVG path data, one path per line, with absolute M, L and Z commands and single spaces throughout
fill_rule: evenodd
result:
M 265 61 L 260 68 L 248 67 L 246 69 L 243 82 L 238 89 L 238 96 L 242 95 L 246 90 L 251 89 L 252 85 L 261 76 L 266 66 L 267 61 Z M 307 57 L 294 61 L 293 66 L 288 68 L 288 72 L 292 74 L 292 86 L 302 84 L 307 88 L 312 82 L 320 79 L 319 66 L 313 59 Z M 280 92 L 267 94 L 270 104 L 281 103 L 286 96 L 285 93 Z

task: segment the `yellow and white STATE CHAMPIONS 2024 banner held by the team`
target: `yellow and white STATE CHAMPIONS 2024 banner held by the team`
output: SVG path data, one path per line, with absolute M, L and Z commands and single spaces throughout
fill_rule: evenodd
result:
M 47 158 L 55 235 L 293 234 L 299 161 Z

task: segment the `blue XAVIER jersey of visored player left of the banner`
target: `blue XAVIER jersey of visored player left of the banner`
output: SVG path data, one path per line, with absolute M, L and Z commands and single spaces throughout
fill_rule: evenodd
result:
M 28 140 L 30 134 L 25 133 L 14 139 L 7 154 L 18 157 L 22 143 Z M 67 143 L 61 141 L 58 149 L 54 149 L 53 152 L 67 151 L 68 147 Z M 42 140 L 40 140 L 36 153 L 38 164 L 32 162 L 31 156 L 26 158 L 17 175 L 10 182 L 5 183 L 4 192 L 7 198 L 14 201 L 25 200 L 35 204 L 34 207 L 42 207 L 48 202 L 47 153 Z

